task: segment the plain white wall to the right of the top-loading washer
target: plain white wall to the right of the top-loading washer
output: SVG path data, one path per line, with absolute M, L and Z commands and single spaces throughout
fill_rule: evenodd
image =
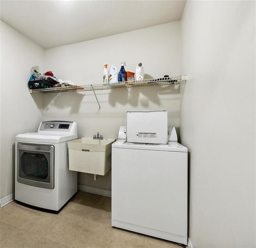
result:
M 255 2 L 188 1 L 181 141 L 193 248 L 255 248 Z

